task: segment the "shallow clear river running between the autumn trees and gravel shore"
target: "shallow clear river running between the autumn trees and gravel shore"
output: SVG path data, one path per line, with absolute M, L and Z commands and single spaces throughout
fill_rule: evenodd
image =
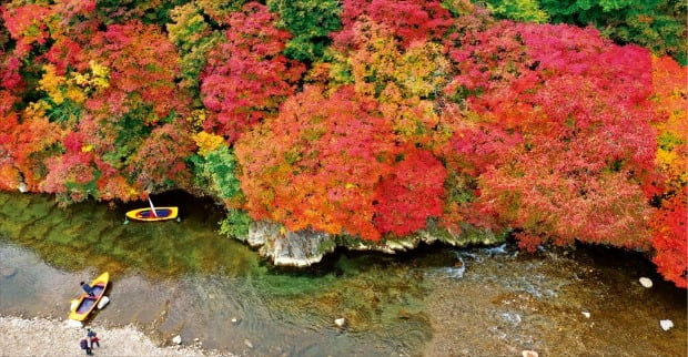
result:
M 183 193 L 154 197 L 183 218 L 154 224 L 124 224 L 135 205 L 53 201 L 0 193 L 0 315 L 65 318 L 79 282 L 108 271 L 100 324 L 247 356 L 687 354 L 686 290 L 637 253 L 434 245 L 290 269 L 217 235 L 221 211 Z

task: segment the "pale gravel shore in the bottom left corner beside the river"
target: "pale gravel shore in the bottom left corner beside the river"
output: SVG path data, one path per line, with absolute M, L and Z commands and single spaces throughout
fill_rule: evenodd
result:
M 195 346 L 160 347 L 132 326 L 109 329 L 98 325 L 89 327 L 100 338 L 100 347 L 93 348 L 94 356 L 234 356 Z M 85 356 L 79 346 L 84 336 L 84 327 L 69 326 L 67 320 L 0 316 L 0 356 Z

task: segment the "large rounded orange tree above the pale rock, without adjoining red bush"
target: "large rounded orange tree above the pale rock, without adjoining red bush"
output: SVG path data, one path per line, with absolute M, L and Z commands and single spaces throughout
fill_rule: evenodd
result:
M 373 201 L 397 149 L 376 103 L 353 88 L 330 96 L 322 88 L 306 88 L 235 147 L 254 220 L 380 238 Z

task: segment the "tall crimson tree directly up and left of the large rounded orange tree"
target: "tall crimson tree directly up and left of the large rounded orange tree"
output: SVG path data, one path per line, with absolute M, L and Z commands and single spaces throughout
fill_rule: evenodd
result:
M 211 115 L 203 125 L 229 142 L 274 115 L 304 70 L 281 54 L 291 35 L 272 21 L 264 6 L 246 4 L 230 16 L 226 40 L 208 54 L 201 93 Z

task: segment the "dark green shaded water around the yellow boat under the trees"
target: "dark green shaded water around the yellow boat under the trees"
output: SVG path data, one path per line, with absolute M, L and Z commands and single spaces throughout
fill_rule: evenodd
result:
M 189 195 L 180 194 L 182 203 Z M 156 205 L 172 201 L 161 196 Z M 179 203 L 178 203 L 179 204 Z M 119 275 L 135 269 L 151 278 L 189 273 L 243 274 L 257 258 L 249 248 L 215 233 L 222 212 L 211 201 L 182 211 L 181 223 L 124 224 L 128 210 L 148 203 L 108 208 L 92 203 L 59 208 L 50 196 L 2 194 L 0 234 L 30 246 L 59 269 L 92 267 Z

